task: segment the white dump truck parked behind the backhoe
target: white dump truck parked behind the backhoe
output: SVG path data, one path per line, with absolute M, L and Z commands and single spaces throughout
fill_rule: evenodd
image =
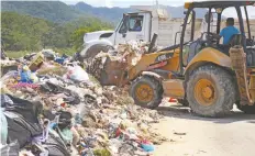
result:
M 100 52 L 108 52 L 109 48 L 129 41 L 151 42 L 154 34 L 158 36 L 155 43 L 157 47 L 170 46 L 179 42 L 177 32 L 181 30 L 182 19 L 173 19 L 165 9 L 157 7 L 136 5 L 132 8 L 138 11 L 124 13 L 114 31 L 86 33 L 80 56 L 93 57 Z M 203 22 L 200 21 L 200 23 Z M 186 35 L 186 37 L 190 36 Z

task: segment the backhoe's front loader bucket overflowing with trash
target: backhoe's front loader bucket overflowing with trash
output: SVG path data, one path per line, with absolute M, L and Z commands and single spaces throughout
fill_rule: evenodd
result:
M 108 53 L 99 53 L 88 62 L 87 73 L 91 74 L 103 86 L 122 86 L 124 71 L 138 64 L 143 54 L 148 51 L 148 43 L 130 41 L 120 44 Z

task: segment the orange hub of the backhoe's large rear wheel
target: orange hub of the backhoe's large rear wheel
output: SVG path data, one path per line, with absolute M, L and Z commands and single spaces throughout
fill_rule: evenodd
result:
M 201 105 L 211 105 L 215 100 L 215 87 L 208 79 L 200 79 L 195 86 L 193 93 Z

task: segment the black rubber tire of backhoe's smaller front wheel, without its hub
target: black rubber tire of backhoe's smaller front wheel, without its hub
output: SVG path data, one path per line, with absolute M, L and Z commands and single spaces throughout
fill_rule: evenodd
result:
M 152 88 L 153 98 L 151 101 L 142 101 L 137 98 L 137 89 L 141 85 L 149 86 Z M 155 109 L 157 108 L 163 99 L 163 87 L 162 83 L 149 76 L 142 76 L 136 78 L 130 89 L 130 96 L 134 99 L 135 104 L 141 105 L 143 108 Z

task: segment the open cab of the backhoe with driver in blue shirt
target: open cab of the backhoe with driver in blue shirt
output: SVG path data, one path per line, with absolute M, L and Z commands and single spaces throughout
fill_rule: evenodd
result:
M 248 20 L 247 4 L 245 2 L 236 2 L 236 5 L 224 2 L 224 4 L 222 4 L 223 8 L 217 2 L 208 2 L 208 12 L 202 20 L 200 32 L 197 31 L 198 26 L 196 26 L 200 25 L 200 16 L 196 16 L 196 14 L 201 14 L 198 10 L 206 9 L 206 5 L 202 2 L 197 2 L 196 5 L 197 7 L 190 7 L 186 11 L 182 25 L 180 51 L 184 67 L 206 47 L 212 47 L 229 55 L 230 47 L 239 43 L 243 45 L 245 52 L 250 55 L 246 47 L 254 46 L 255 44 L 251 34 L 252 26 Z M 255 65 L 255 58 L 248 59 L 247 64 Z

